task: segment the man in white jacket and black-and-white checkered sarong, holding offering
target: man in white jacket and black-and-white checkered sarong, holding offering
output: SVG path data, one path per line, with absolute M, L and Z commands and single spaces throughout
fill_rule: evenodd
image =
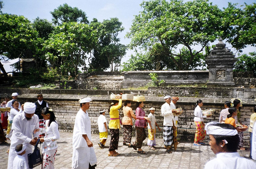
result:
M 161 107 L 161 114 L 164 116 L 164 130 L 163 130 L 163 138 L 164 138 L 164 147 L 166 148 L 166 151 L 168 153 L 172 153 L 170 150 L 172 147 L 172 126 L 173 126 L 173 119 L 177 119 L 178 117 L 174 117 L 174 114 L 177 113 L 177 111 L 172 110 L 171 108 L 171 96 L 166 95 L 164 96 L 165 103 Z

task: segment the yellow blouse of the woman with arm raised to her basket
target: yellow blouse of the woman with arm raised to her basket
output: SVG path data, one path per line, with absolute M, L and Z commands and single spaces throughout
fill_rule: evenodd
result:
M 118 105 L 110 107 L 110 111 L 109 111 L 110 118 L 118 118 L 118 119 L 114 119 L 114 120 L 110 119 L 110 122 L 108 124 L 109 129 L 120 129 L 118 109 L 120 109 L 121 107 L 122 107 L 122 99 L 119 99 Z

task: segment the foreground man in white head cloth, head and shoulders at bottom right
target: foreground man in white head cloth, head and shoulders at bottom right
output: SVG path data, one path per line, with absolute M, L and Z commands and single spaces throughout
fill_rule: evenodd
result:
M 237 130 L 232 125 L 210 122 L 205 125 L 205 130 L 210 137 L 211 150 L 216 154 L 216 158 L 206 163 L 205 169 L 256 168 L 256 163 L 238 154 L 240 139 Z

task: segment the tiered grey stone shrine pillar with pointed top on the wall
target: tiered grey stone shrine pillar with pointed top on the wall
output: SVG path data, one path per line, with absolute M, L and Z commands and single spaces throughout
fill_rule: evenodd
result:
M 226 44 L 220 38 L 216 47 L 213 47 L 210 55 L 205 59 L 209 69 L 208 87 L 232 87 L 235 85 L 233 68 L 237 58 L 225 46 Z

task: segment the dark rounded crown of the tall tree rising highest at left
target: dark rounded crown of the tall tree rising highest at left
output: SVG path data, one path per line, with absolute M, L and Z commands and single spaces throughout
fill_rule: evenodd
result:
M 66 3 L 50 13 L 52 14 L 52 22 L 55 25 L 61 25 L 63 22 L 89 23 L 84 11 L 79 10 L 77 7 L 73 8 Z

